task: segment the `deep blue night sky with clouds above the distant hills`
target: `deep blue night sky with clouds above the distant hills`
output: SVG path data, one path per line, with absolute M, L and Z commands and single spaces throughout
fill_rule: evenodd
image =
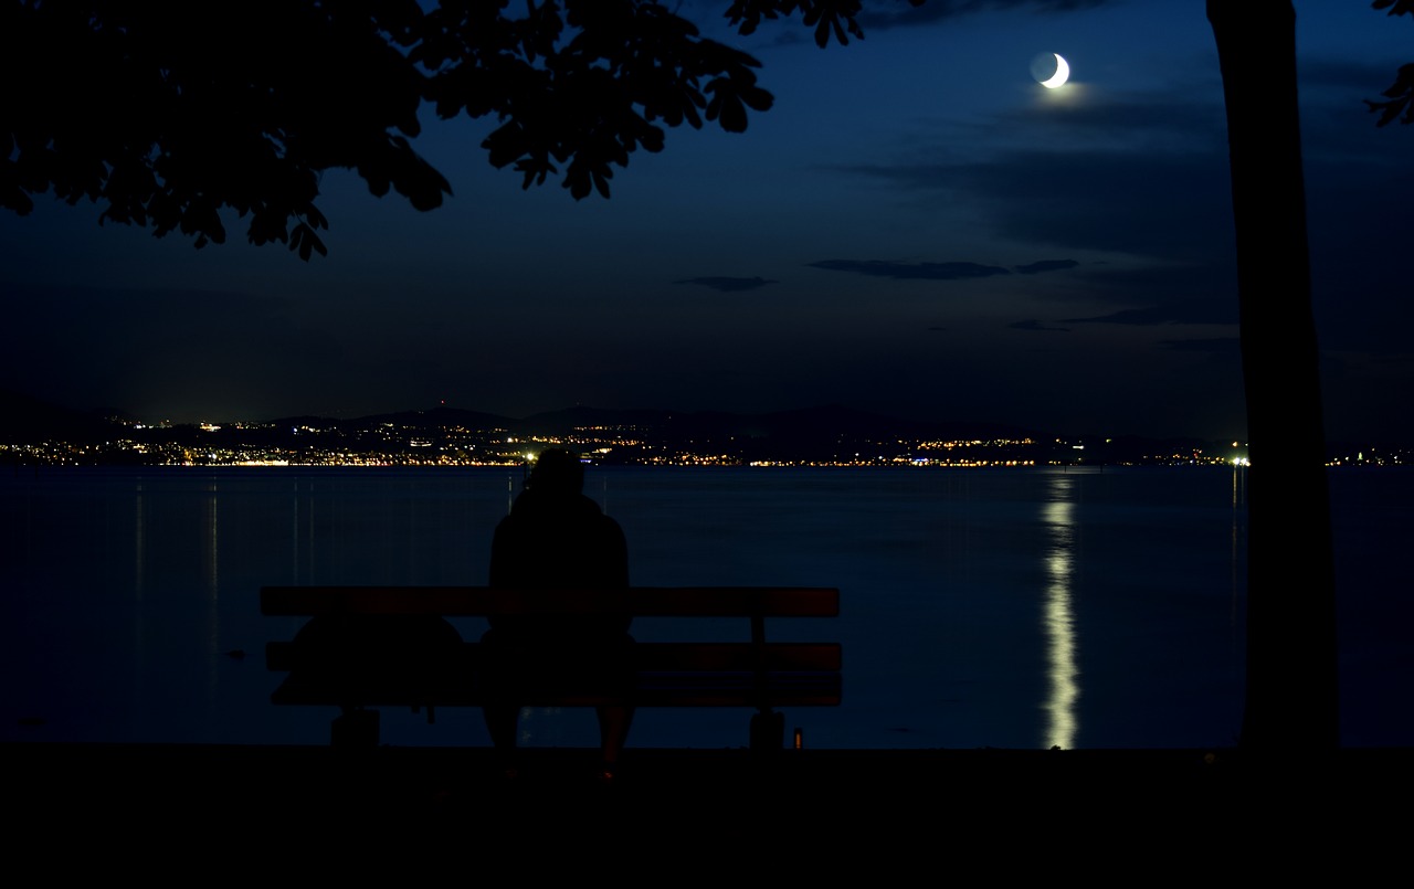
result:
M 1411 442 L 1414 127 L 1374 126 L 1414 21 L 1297 0 L 1328 435 Z M 1243 438 L 1222 83 L 1199 0 L 871 4 L 867 38 L 735 37 L 775 107 L 672 130 L 612 198 L 522 191 L 493 122 L 424 114 L 454 198 L 324 177 L 328 257 L 0 211 L 0 386 L 173 421 L 587 404 L 847 404 Z M 1072 81 L 1031 73 L 1059 52 Z

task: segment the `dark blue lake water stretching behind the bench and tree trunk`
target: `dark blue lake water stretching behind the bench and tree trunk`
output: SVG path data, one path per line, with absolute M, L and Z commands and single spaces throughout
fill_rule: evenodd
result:
M 1226 746 L 1241 721 L 1246 469 L 591 469 L 643 585 L 826 585 L 844 704 L 820 748 Z M 0 478 L 0 739 L 327 743 L 274 707 L 267 584 L 482 584 L 506 469 L 83 469 Z M 1414 473 L 1332 475 L 1342 734 L 1414 745 Z M 1294 581 L 1299 553 L 1292 554 Z M 464 637 L 484 622 L 460 620 Z M 639 639 L 741 637 L 639 620 Z M 799 625 L 799 626 L 792 626 Z M 232 657 L 232 650 L 246 657 Z M 643 710 L 629 746 L 741 746 L 745 711 Z M 385 711 L 400 745 L 486 745 L 478 711 Z M 525 743 L 592 746 L 591 711 Z

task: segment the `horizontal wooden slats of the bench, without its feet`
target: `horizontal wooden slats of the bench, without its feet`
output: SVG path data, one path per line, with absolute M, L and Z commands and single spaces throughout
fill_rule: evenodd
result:
M 506 589 L 493 587 L 263 587 L 260 611 L 267 616 L 501 616 L 617 615 L 633 618 L 748 618 L 749 643 L 645 643 L 632 646 L 638 670 L 635 701 L 660 705 L 836 705 L 840 702 L 840 643 L 766 643 L 766 619 L 833 618 L 840 591 L 831 587 L 629 587 L 626 589 Z M 376 620 L 375 620 L 376 623 Z M 335 626 L 339 622 L 335 620 Z M 341 630 L 342 632 L 342 630 Z M 291 671 L 276 691 L 283 704 L 484 702 L 472 669 L 477 643 L 460 643 L 452 670 L 438 669 L 434 681 L 417 674 L 413 685 L 399 678 L 338 667 L 329 674 L 327 652 L 296 642 L 270 642 L 271 670 Z M 358 647 L 362 663 L 366 646 Z M 376 649 L 372 649 L 376 650 Z M 440 650 L 440 649 L 438 649 Z M 337 659 L 335 659 L 337 660 Z M 304 676 L 297 676 L 300 671 Z M 311 671 L 312 673 L 308 673 Z M 396 673 L 396 671 L 395 671 Z M 546 693 L 549 694 L 549 693 Z M 602 693 L 598 693 L 602 697 Z M 543 702 L 602 702 L 556 690 Z

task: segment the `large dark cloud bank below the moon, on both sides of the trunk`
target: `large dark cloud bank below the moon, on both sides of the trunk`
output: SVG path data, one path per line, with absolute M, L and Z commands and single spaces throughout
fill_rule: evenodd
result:
M 1410 137 L 1403 127 L 1377 129 L 1360 102 L 1383 89 L 1386 68 L 1333 59 L 1302 65 L 1312 301 L 1321 343 L 1331 349 L 1407 348 L 1406 331 L 1414 328 L 1414 304 L 1403 295 L 1408 285 L 1387 274 L 1387 253 L 1397 250 L 1390 245 L 1403 243 L 1400 233 L 1408 230 L 1407 208 L 1393 195 L 1414 189 Z M 956 133 L 932 140 L 915 133 L 898 143 L 899 163 L 847 171 L 913 202 L 969 208 L 990 233 L 1036 250 L 1127 254 L 1131 261 L 1085 263 L 1063 278 L 1082 287 L 1046 293 L 1126 311 L 1066 322 L 1237 324 L 1217 85 L 1097 95 L 997 114 L 981 130 L 980 141 L 1005 131 L 1019 147 L 967 157 L 969 143 Z

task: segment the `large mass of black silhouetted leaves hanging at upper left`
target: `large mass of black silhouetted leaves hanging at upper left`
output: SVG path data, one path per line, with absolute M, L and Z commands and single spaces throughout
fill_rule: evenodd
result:
M 922 0 L 911 0 L 915 6 Z M 799 17 L 863 37 L 860 0 L 734 0 L 741 34 Z M 324 254 L 320 175 L 355 170 L 417 209 L 451 194 L 419 110 L 493 117 L 481 148 L 523 187 L 609 195 L 665 130 L 747 129 L 772 96 L 751 55 L 658 0 L 0 0 L 0 206 L 51 191 L 99 220 Z

